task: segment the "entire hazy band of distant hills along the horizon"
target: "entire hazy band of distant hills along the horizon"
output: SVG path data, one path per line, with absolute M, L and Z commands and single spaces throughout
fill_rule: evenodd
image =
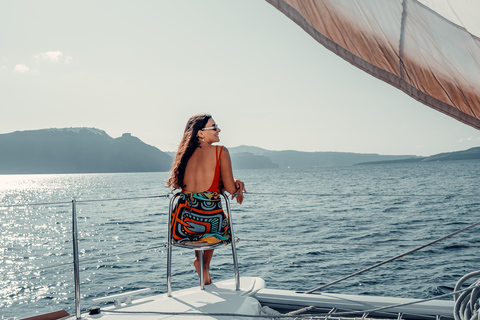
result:
M 228 148 L 234 169 L 312 168 L 420 161 L 480 159 L 480 147 L 430 157 L 349 152 Z M 96 128 L 62 128 L 0 134 L 0 174 L 169 171 L 174 152 L 163 152 L 130 133 L 110 137 Z

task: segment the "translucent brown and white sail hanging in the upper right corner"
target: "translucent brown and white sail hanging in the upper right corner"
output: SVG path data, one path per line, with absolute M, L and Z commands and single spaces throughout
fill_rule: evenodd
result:
M 474 1 L 267 0 L 351 64 L 480 129 Z

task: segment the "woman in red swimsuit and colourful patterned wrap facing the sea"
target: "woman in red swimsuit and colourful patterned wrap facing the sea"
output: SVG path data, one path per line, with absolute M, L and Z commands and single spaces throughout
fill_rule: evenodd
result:
M 172 236 L 177 242 L 218 243 L 231 241 L 230 229 L 219 192 L 228 191 L 232 199 L 243 202 L 244 183 L 233 177 L 227 148 L 219 142 L 220 128 L 208 114 L 190 117 L 172 166 L 168 187 L 182 189 L 172 213 Z M 211 284 L 212 250 L 205 250 L 205 284 Z M 200 275 L 197 251 L 195 269 Z

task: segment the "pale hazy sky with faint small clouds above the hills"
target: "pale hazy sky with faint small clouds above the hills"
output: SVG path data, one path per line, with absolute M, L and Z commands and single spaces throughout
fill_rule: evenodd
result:
M 94 127 L 175 151 L 221 144 L 428 156 L 480 131 L 356 69 L 261 0 L 0 3 L 0 134 Z

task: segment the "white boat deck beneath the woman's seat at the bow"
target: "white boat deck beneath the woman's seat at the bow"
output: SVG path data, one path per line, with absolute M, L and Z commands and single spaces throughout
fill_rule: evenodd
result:
M 419 300 L 332 293 L 304 294 L 288 290 L 267 289 L 265 281 L 256 277 L 242 277 L 239 291 L 235 291 L 235 281 L 231 279 L 205 286 L 205 290 L 201 290 L 200 287 L 193 287 L 174 291 L 171 297 L 168 297 L 165 293 L 135 299 L 135 297 L 128 297 L 128 294 L 121 294 L 101 299 L 111 302 L 117 299 L 118 301 L 116 306 L 102 307 L 100 314 L 82 314 L 82 319 L 178 320 L 192 319 L 198 317 L 199 314 L 202 314 L 201 319 L 249 319 L 249 316 L 266 315 L 263 312 L 265 307 L 262 309 L 262 305 L 280 308 L 284 312 L 313 306 L 317 311 L 323 310 L 324 312 L 336 309 L 340 312 L 355 310 L 368 313 L 377 308 L 396 304 L 408 305 L 369 314 L 393 319 L 397 319 L 398 314 L 404 319 L 425 319 L 425 316 L 428 318 L 440 316 L 442 319 L 452 319 L 454 308 L 453 301 L 444 300 L 431 300 L 410 305 L 409 303 Z M 129 301 L 130 299 L 132 300 Z M 417 315 L 423 315 L 423 317 L 417 317 Z M 331 314 L 332 319 L 336 316 L 335 313 Z M 356 314 L 356 317 L 361 316 L 361 313 Z M 274 317 L 272 315 L 272 318 Z M 69 316 L 65 319 L 75 319 L 75 316 Z M 253 317 L 250 319 L 253 319 Z

